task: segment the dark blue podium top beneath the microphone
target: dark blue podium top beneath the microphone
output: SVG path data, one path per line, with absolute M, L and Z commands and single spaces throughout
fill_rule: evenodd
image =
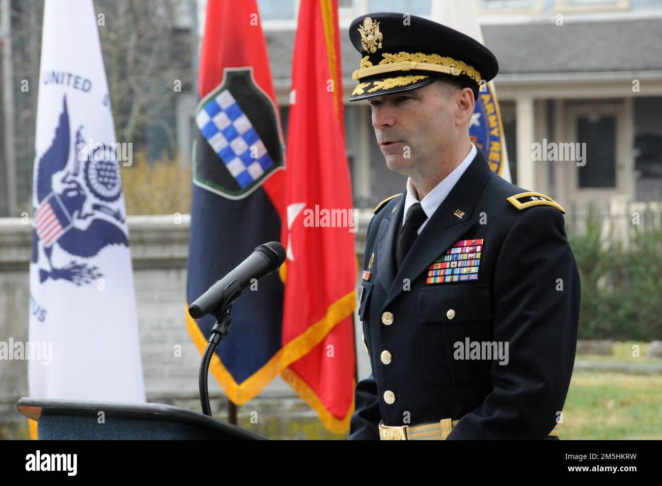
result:
M 160 403 L 24 397 L 16 407 L 38 422 L 39 440 L 265 440 L 222 420 Z

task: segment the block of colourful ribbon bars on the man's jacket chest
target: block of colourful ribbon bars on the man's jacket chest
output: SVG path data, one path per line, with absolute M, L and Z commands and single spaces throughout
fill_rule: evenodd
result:
M 478 280 L 483 239 L 461 239 L 428 267 L 426 284 Z

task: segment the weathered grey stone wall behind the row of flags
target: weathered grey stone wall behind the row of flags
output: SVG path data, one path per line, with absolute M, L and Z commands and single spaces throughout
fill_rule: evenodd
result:
M 370 217 L 370 212 L 361 212 L 357 218 L 356 248 L 361 264 Z M 180 219 L 171 215 L 128 217 L 140 349 L 148 401 L 199 409 L 200 355 L 184 321 L 190 217 L 182 215 Z M 7 342 L 10 337 L 14 341 L 28 339 L 31 223 L 20 218 L 0 218 L 0 341 Z M 360 322 L 355 329 L 361 379 L 369 375 L 370 365 L 361 340 Z M 175 357 L 175 345 L 181 345 L 181 357 Z M 213 377 L 209 389 L 215 399 L 213 408 L 219 408 L 224 394 Z M 26 395 L 27 361 L 0 361 L 0 428 L 23 422 L 15 404 Z M 279 404 L 287 404 L 288 410 L 310 416 L 310 409 L 301 406 L 300 401 L 289 385 L 276 377 L 247 406 L 264 408 L 268 404 L 273 410 Z M 314 420 L 314 414 L 311 419 Z

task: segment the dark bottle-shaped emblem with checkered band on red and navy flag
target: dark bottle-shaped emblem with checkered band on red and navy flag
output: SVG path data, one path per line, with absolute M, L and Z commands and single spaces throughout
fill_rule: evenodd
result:
M 256 85 L 252 68 L 226 68 L 221 84 L 196 109 L 193 183 L 241 199 L 282 168 L 276 109 Z

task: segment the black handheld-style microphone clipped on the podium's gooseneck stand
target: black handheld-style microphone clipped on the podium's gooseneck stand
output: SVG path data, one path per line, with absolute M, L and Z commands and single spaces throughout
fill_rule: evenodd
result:
M 279 269 L 285 261 L 285 248 L 277 241 L 269 241 L 257 247 L 253 253 L 233 271 L 217 280 L 209 290 L 199 296 L 191 306 L 189 314 L 200 319 L 207 314 L 222 311 L 237 300 L 253 278 L 262 278 Z

